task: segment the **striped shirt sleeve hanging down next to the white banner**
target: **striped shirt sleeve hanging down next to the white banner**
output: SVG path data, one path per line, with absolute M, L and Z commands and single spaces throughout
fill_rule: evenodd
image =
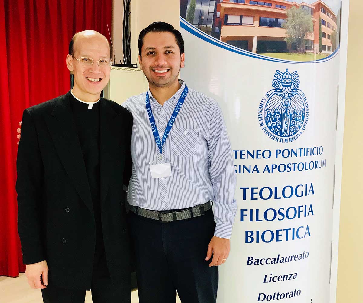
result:
M 217 103 L 212 107 L 208 130 L 208 164 L 213 184 L 216 218 L 214 235 L 229 239 L 237 212 L 237 201 L 234 199 L 236 174 L 227 128 Z

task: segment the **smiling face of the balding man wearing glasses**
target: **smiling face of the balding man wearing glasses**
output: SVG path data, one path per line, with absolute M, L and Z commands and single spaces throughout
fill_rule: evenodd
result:
M 67 67 L 74 74 L 73 93 L 84 101 L 96 101 L 110 79 L 111 67 L 98 66 L 100 59 L 110 59 L 110 48 L 106 37 L 95 31 L 77 34 L 74 41 L 74 53 L 67 56 Z M 90 66 L 77 59 L 88 57 L 94 60 Z M 75 59 L 77 58 L 77 59 Z

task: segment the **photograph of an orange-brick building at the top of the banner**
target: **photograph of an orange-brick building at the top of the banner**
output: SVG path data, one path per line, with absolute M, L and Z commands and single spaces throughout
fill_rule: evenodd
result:
M 324 59 L 339 45 L 335 0 L 181 0 L 180 16 L 229 45 L 279 59 Z

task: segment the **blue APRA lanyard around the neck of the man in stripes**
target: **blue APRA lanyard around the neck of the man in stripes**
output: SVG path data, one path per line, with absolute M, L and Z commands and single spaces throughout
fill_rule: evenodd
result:
M 155 118 L 154 115 L 152 114 L 152 110 L 151 110 L 151 105 L 150 105 L 150 99 L 149 99 L 149 93 L 146 93 L 146 99 L 145 99 L 145 104 L 146 104 L 146 111 L 147 111 L 147 115 L 149 116 L 149 120 L 150 120 L 150 124 L 151 124 L 151 130 L 152 133 L 154 135 L 155 138 L 155 142 L 156 145 L 158 145 L 160 154 L 162 154 L 163 152 L 163 145 L 166 141 L 166 138 L 168 137 L 170 130 L 175 122 L 176 116 L 178 116 L 178 113 L 180 111 L 181 105 L 183 105 L 185 97 L 187 97 L 188 94 L 188 87 L 185 85 L 184 91 L 181 94 L 178 103 L 176 104 L 175 108 L 174 108 L 174 112 L 172 113 L 170 120 L 168 122 L 168 124 L 166 125 L 165 128 L 165 132 L 164 132 L 164 136 L 163 139 L 160 141 L 160 137 L 159 137 L 159 132 L 158 132 L 158 128 L 156 127 L 156 123 L 155 123 Z

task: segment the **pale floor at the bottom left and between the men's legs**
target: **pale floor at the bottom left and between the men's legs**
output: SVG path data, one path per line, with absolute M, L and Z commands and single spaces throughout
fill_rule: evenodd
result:
M 0 302 L 1 303 L 42 303 L 41 291 L 29 287 L 25 274 L 18 278 L 0 276 Z M 85 303 L 91 303 L 91 291 L 86 292 Z M 131 294 L 131 303 L 138 303 L 137 291 Z M 176 300 L 180 303 L 179 298 Z

